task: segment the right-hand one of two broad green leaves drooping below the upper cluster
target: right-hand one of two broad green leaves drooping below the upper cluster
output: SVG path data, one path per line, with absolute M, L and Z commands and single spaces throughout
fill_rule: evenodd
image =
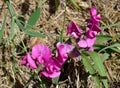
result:
M 95 68 L 97 68 L 96 70 L 101 76 L 105 88 L 108 88 L 107 74 L 102 59 L 100 58 L 99 54 L 95 52 L 89 52 L 88 54 L 91 56 L 92 60 L 94 61 L 94 66 Z

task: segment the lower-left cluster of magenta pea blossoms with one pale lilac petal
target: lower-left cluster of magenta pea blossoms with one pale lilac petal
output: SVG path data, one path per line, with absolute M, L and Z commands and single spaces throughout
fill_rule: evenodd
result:
M 27 53 L 22 59 L 22 65 L 34 70 L 39 64 L 43 64 L 40 76 L 55 78 L 60 75 L 63 63 L 68 59 L 68 54 L 74 49 L 70 44 L 57 43 L 57 57 L 52 57 L 52 52 L 48 46 L 35 45 L 31 53 Z

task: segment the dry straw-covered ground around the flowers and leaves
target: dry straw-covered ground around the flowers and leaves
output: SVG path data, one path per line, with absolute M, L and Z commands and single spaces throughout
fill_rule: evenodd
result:
M 7 22 L 0 43 L 0 88 L 39 88 L 37 80 L 31 80 L 30 70 L 21 66 L 22 57 L 25 52 L 20 48 L 23 40 L 25 46 L 30 51 L 35 44 L 45 44 L 50 48 L 54 48 L 58 35 L 62 29 L 66 35 L 66 30 L 70 21 L 74 21 L 79 26 L 86 25 L 89 19 L 89 9 L 91 6 L 97 8 L 101 15 L 101 26 L 115 24 L 120 22 L 120 1 L 119 0 L 75 0 L 80 9 L 75 8 L 69 0 L 59 0 L 59 5 L 55 7 L 55 0 L 42 0 L 41 15 L 39 21 L 33 27 L 34 31 L 42 31 L 45 38 L 30 37 L 18 30 L 15 25 L 15 39 L 8 41 L 11 28 L 10 14 L 4 0 L 0 0 L 0 28 L 4 16 L 7 14 Z M 38 6 L 38 0 L 11 0 L 14 11 L 18 15 L 24 16 L 21 19 L 24 23 L 28 20 L 31 13 Z M 102 31 L 102 35 L 115 36 L 120 34 L 120 26 L 107 28 Z M 19 38 L 21 37 L 21 38 Z M 120 42 L 119 39 L 114 42 Z M 109 42 L 108 42 L 109 43 Z M 105 43 L 105 44 L 108 44 Z M 120 48 L 120 47 L 119 47 Z M 120 88 L 120 55 L 112 53 L 104 62 L 108 74 L 110 88 Z M 57 86 L 59 88 L 95 88 L 95 84 L 91 77 L 86 82 L 82 81 L 85 75 L 85 69 L 81 62 L 68 61 L 64 66 L 65 72 L 62 73 Z M 71 69 L 71 71 L 69 70 Z M 64 74 L 64 75 L 63 75 Z M 50 84 L 51 88 L 55 85 Z M 57 87 L 56 87 L 57 88 Z

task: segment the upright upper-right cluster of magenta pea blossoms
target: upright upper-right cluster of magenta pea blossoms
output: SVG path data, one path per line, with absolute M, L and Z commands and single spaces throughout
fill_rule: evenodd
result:
M 87 25 L 87 30 L 84 38 L 81 38 L 82 31 L 81 29 L 75 24 L 74 22 L 71 22 L 68 26 L 67 34 L 70 34 L 76 39 L 80 39 L 77 42 L 77 45 L 81 48 L 87 49 L 89 51 L 93 51 L 93 45 L 96 41 L 96 35 L 98 32 L 101 32 L 101 29 L 99 27 L 99 21 L 101 19 L 101 16 L 98 14 L 95 7 L 92 7 L 90 9 L 90 21 Z

